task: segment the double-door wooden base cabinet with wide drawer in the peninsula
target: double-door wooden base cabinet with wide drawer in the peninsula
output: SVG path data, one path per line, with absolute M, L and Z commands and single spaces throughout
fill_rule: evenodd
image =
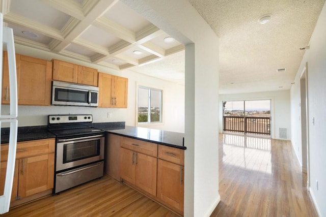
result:
M 122 138 L 120 149 L 121 178 L 156 197 L 157 144 Z

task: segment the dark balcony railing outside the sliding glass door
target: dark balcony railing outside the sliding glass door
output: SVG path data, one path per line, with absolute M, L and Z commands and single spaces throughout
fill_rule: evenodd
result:
M 270 117 L 223 116 L 223 131 L 270 135 Z

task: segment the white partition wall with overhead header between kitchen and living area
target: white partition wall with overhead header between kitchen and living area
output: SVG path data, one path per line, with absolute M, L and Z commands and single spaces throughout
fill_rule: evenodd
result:
M 209 216 L 220 201 L 219 39 L 186 0 L 122 1 L 186 45 L 184 215 Z

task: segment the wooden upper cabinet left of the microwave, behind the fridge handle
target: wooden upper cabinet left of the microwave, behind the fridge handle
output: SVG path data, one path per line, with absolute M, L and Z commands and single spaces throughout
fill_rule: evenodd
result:
M 10 103 L 7 52 L 4 52 L 3 104 Z M 16 54 L 18 105 L 50 105 L 52 62 Z

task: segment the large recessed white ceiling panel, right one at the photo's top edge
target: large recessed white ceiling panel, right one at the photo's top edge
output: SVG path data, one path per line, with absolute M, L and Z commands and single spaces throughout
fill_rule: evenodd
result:
M 133 32 L 138 32 L 140 29 L 150 24 L 150 22 L 121 2 L 117 2 L 104 14 L 104 17 L 117 22 Z

